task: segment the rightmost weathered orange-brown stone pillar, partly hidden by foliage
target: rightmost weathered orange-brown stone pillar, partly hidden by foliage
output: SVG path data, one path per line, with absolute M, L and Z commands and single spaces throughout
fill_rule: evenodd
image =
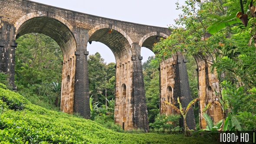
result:
M 197 61 L 198 72 L 198 98 L 199 98 L 199 123 L 200 129 L 206 128 L 207 122 L 203 118 L 203 109 L 213 101 L 219 101 L 220 92 L 219 80 L 216 69 L 211 72 L 211 64 L 207 63 L 210 56 L 194 56 Z M 217 93 L 215 93 L 217 92 Z M 216 124 L 222 119 L 223 113 L 220 105 L 213 104 L 207 109 L 207 114 L 212 118 L 213 124 Z

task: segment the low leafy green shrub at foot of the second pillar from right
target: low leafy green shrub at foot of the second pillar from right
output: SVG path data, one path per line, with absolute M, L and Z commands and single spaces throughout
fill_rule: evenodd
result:
M 159 115 L 155 119 L 154 123 L 149 125 L 154 128 L 155 131 L 171 131 L 171 130 L 180 130 L 179 121 L 180 115 Z

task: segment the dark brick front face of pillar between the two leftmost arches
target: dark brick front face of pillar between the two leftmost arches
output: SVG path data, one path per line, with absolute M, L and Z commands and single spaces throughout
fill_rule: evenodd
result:
M 75 95 L 74 95 L 74 113 L 82 115 L 83 118 L 90 119 L 90 96 L 89 96 L 89 77 L 88 77 L 88 59 L 89 52 L 87 47 L 87 31 L 77 29 L 75 39 L 77 43 L 75 57 Z

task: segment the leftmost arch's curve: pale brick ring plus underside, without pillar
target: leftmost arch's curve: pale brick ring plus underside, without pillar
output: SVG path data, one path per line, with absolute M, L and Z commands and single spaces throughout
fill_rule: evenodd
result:
M 43 12 L 28 13 L 14 24 L 16 39 L 27 33 L 43 33 L 53 38 L 62 49 L 64 61 L 76 50 L 72 26 L 62 17 Z M 75 48 L 75 49 L 74 49 Z

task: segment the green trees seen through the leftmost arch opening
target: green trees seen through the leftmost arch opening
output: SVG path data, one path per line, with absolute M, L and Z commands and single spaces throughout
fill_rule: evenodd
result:
M 62 51 L 49 36 L 30 33 L 16 40 L 16 85 L 60 82 Z

